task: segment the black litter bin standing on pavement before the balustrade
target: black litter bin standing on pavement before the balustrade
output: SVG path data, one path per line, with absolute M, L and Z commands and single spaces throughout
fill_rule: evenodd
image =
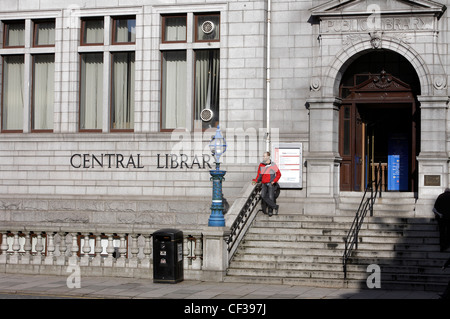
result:
M 161 229 L 153 233 L 153 282 L 183 281 L 183 232 Z

